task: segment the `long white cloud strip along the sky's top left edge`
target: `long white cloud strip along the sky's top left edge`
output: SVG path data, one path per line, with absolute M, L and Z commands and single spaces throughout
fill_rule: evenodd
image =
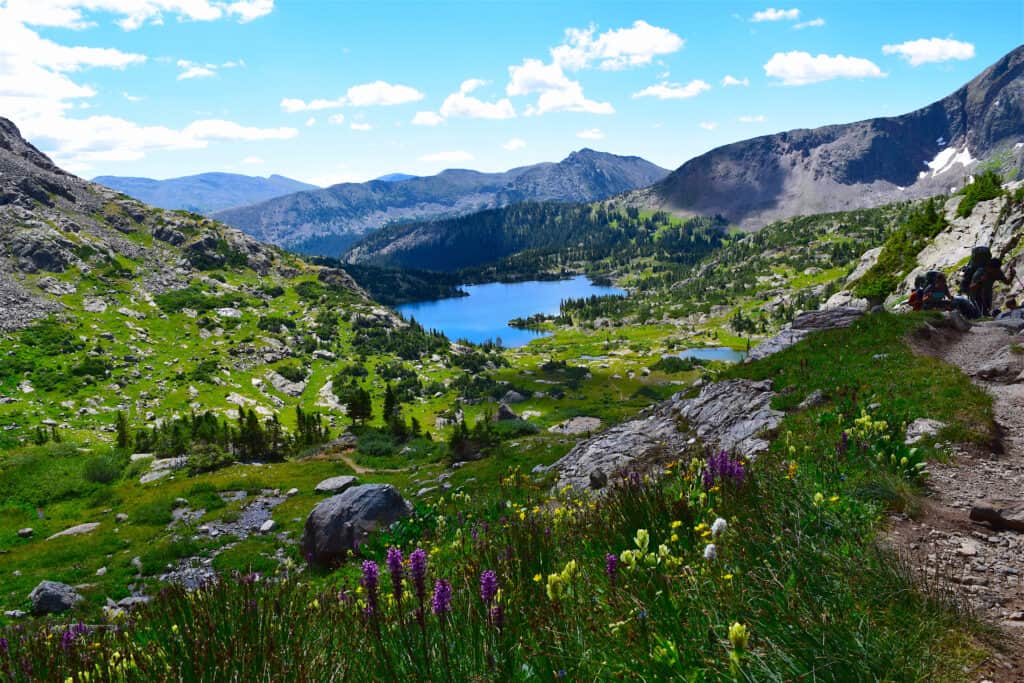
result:
M 4 11 L 23 24 L 81 30 L 95 26 L 89 13 L 110 13 L 117 25 L 134 31 L 161 25 L 164 15 L 180 20 L 214 22 L 233 17 L 245 24 L 273 11 L 273 0 L 6 0 Z

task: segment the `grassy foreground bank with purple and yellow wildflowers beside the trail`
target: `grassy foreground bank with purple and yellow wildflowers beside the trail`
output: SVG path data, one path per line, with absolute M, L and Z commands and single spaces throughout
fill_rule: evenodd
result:
M 9 628 L 0 672 L 75 682 L 956 680 L 980 656 L 971 620 L 918 590 L 876 542 L 886 510 L 918 485 L 919 460 L 937 453 L 903 446 L 905 422 L 940 419 L 940 436 L 957 439 L 990 428 L 982 392 L 906 347 L 920 323 L 869 316 L 732 370 L 771 377 L 780 409 L 824 393 L 790 413 L 755 462 L 681 454 L 649 475 L 627 473 L 600 501 L 549 496 L 513 470 L 489 493 L 438 500 L 378 537 L 359 558 L 373 565 L 169 588 L 130 621 L 83 633 Z M 389 547 L 407 561 L 389 567 Z M 423 570 L 408 562 L 417 548 Z

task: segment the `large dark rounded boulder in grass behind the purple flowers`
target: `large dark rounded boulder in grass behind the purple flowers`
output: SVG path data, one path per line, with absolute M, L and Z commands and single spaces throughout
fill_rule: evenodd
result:
M 330 565 L 362 543 L 381 526 L 412 514 L 412 506 L 390 484 L 362 484 L 321 501 L 306 518 L 302 532 L 303 557 Z

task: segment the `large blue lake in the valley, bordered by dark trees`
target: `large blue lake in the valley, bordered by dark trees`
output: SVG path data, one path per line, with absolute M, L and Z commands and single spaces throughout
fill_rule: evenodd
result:
M 536 313 L 554 315 L 564 299 L 592 295 L 625 296 L 615 287 L 598 287 L 586 275 L 554 282 L 490 283 L 461 288 L 469 296 L 437 301 L 418 301 L 397 306 L 398 311 L 428 330 L 440 330 L 449 339 L 480 343 L 499 338 L 505 346 L 522 346 L 546 333 L 511 328 L 514 317 Z

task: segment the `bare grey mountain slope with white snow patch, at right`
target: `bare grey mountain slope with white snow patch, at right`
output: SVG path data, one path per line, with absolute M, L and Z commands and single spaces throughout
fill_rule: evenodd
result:
M 986 163 L 1024 168 L 1024 47 L 916 112 L 718 147 L 629 201 L 759 228 L 947 193 Z

